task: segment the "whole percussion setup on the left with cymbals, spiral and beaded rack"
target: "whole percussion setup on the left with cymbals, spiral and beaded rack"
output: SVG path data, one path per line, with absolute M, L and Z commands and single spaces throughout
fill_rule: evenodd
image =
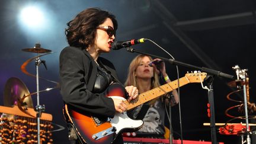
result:
M 43 113 L 44 105 L 39 103 L 39 94 L 44 91 L 59 88 L 59 83 L 54 88 L 39 90 L 39 66 L 41 63 L 46 67 L 45 60 L 41 56 L 52 53 L 52 50 L 44 49 L 40 43 L 32 48 L 22 49 L 24 52 L 37 53 L 37 56 L 28 59 L 21 66 L 21 71 L 29 76 L 36 77 L 37 91 L 30 93 L 21 79 L 11 77 L 4 87 L 4 106 L 0 106 L 0 143 L 53 143 L 52 115 Z M 42 54 L 42 55 L 39 55 Z M 35 60 L 36 75 L 28 73 L 26 66 Z M 34 107 L 32 95 L 37 95 L 37 105 Z M 59 126 L 58 124 L 55 124 Z M 59 126 L 63 129 L 62 126 Z M 55 130 L 56 131 L 56 130 Z

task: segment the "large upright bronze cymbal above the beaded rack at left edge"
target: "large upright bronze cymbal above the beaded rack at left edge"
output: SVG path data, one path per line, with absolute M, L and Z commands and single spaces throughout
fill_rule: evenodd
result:
M 20 103 L 19 100 L 23 98 L 25 95 L 29 95 L 30 92 L 28 88 L 25 86 L 24 82 L 20 79 L 11 77 L 7 80 L 4 87 L 4 105 L 11 107 L 17 103 Z M 33 100 L 31 96 L 24 99 L 23 106 L 27 106 L 29 108 L 33 108 Z

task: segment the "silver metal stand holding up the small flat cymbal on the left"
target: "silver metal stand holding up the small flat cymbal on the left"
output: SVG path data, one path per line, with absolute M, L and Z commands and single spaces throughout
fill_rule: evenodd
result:
M 40 44 L 37 43 L 36 47 L 39 46 Z M 38 53 L 37 53 L 38 55 Z M 37 143 L 40 144 L 40 117 L 41 113 L 45 110 L 44 105 L 40 105 L 39 103 L 39 66 L 42 63 L 39 57 L 36 58 L 36 86 L 37 86 L 37 105 L 35 107 L 35 111 L 37 111 Z

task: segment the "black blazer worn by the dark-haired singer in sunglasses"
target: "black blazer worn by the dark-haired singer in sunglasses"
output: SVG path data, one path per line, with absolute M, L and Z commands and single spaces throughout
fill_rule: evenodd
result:
M 100 116 L 114 117 L 115 108 L 111 98 L 103 93 L 92 93 L 98 66 L 87 50 L 65 47 L 60 53 L 60 92 L 63 101 L 72 107 Z M 98 57 L 112 75 L 117 77 L 113 64 Z

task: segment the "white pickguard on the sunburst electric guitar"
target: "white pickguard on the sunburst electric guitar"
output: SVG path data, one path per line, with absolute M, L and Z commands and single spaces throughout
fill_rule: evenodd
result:
M 111 98 L 119 98 L 126 101 L 125 98 L 119 96 L 111 96 Z M 110 123 L 113 127 L 116 127 L 116 133 L 119 133 L 123 129 L 139 129 L 143 125 L 142 120 L 132 120 L 127 116 L 126 111 L 124 113 L 116 112 L 113 119 L 110 118 Z

